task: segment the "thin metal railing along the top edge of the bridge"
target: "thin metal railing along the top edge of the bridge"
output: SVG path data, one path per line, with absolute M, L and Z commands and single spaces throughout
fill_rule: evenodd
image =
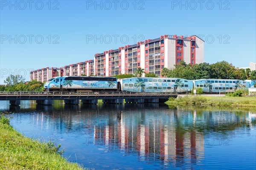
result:
M 0 91 L 0 96 L 169 96 L 177 92 L 35 92 Z

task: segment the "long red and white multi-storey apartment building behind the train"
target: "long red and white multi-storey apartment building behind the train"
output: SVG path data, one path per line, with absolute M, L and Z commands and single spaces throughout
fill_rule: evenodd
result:
M 59 69 L 62 70 L 63 76 L 110 77 L 134 74 L 140 67 L 144 68 L 146 73 L 160 76 L 163 68 L 173 68 L 181 60 L 191 65 L 204 62 L 204 41 L 196 35 L 190 37 L 163 35 L 153 40 L 148 39 L 134 45 L 103 51 L 95 54 L 91 60 L 66 65 Z M 30 79 L 41 81 L 54 77 L 54 71 L 48 73 L 49 70 L 52 69 L 32 71 Z

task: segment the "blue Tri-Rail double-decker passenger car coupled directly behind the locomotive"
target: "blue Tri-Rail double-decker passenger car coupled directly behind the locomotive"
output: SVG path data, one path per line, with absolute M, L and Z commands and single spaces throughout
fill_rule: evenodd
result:
M 118 80 L 122 91 L 185 93 L 193 88 L 193 81 L 176 78 L 133 77 Z

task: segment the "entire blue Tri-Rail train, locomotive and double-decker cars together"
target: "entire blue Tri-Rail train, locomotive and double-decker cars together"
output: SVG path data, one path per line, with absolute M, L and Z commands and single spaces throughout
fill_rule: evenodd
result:
M 44 91 L 67 92 L 177 92 L 187 93 L 193 88 L 202 88 L 204 93 L 230 93 L 239 88 L 252 88 L 255 80 L 197 79 L 132 77 L 82 77 L 64 76 L 49 79 Z

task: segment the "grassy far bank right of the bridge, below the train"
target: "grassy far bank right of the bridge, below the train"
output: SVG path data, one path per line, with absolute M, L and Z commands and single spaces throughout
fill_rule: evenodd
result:
M 256 97 L 230 96 L 184 96 L 177 99 L 170 98 L 169 105 L 212 105 L 230 107 L 256 107 Z

